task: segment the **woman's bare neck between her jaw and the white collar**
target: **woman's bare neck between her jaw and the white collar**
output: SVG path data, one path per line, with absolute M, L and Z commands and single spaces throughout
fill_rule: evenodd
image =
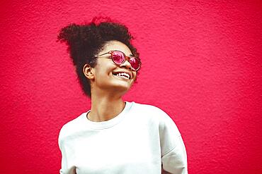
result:
M 91 111 L 88 119 L 95 122 L 110 120 L 118 116 L 125 108 L 125 102 L 121 97 L 112 95 L 91 95 Z

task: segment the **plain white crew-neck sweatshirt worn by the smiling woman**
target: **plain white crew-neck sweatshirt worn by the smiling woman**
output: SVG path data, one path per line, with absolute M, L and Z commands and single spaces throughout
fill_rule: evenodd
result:
M 115 118 L 92 122 L 86 113 L 59 133 L 60 173 L 188 173 L 186 149 L 173 120 L 160 108 L 125 102 Z

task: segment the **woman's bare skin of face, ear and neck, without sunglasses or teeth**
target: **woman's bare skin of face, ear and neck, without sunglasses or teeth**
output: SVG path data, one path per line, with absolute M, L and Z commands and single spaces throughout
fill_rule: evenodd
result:
M 126 55 L 132 54 L 122 42 L 111 41 L 98 55 L 111 50 L 120 50 Z M 91 111 L 88 118 L 96 122 L 110 120 L 123 111 L 125 102 L 122 97 L 132 87 L 137 75 L 128 61 L 118 66 L 108 58 L 109 56 L 110 54 L 99 57 L 94 68 L 88 64 L 83 68 L 84 75 L 91 81 Z M 115 72 L 126 72 L 130 74 L 130 79 L 115 76 Z

